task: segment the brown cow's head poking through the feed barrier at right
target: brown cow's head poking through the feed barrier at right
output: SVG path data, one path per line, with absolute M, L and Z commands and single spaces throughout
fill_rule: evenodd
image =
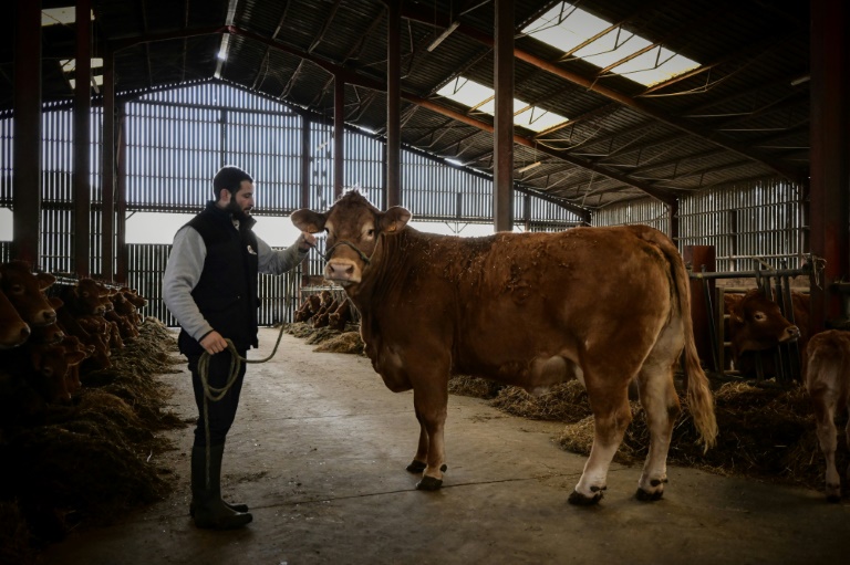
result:
M 782 316 L 775 302 L 753 290 L 730 304 L 729 334 L 735 355 L 740 355 L 797 339 L 800 329 Z

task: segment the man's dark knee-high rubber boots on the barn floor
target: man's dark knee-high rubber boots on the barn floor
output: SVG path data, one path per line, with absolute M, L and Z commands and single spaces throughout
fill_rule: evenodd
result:
M 225 446 L 209 449 L 209 484 L 207 484 L 207 449 L 191 448 L 191 503 L 195 525 L 205 530 L 234 530 L 248 524 L 253 516 L 237 512 L 221 500 L 221 458 Z

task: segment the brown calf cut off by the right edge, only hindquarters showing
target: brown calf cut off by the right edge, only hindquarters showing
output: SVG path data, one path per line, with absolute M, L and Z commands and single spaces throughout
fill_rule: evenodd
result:
M 816 334 L 806 349 L 806 389 L 815 407 L 820 450 L 827 460 L 826 494 L 830 502 L 841 500 L 841 478 L 836 468 L 837 412 L 850 414 L 850 333 L 827 329 Z M 850 421 L 847 423 L 850 447 Z M 850 465 L 846 478 L 850 481 Z

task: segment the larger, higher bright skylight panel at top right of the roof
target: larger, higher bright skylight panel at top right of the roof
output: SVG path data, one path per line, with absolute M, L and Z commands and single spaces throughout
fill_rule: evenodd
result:
M 651 41 L 568 2 L 556 4 L 527 25 L 522 33 L 600 69 L 623 61 L 610 71 L 644 86 L 652 86 L 699 66 L 699 63 L 684 55 L 662 45 L 653 45 Z M 643 50 L 645 52 L 635 55 Z

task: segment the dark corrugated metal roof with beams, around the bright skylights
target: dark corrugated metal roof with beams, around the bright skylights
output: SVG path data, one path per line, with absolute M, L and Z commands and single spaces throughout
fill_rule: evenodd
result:
M 515 1 L 516 30 L 559 3 Z M 528 142 L 515 145 L 520 184 L 593 210 L 646 193 L 675 198 L 808 176 L 808 2 L 574 3 L 702 66 L 647 88 L 518 33 L 515 96 L 569 117 L 553 132 L 515 128 Z M 42 2 L 51 6 L 60 2 Z M 485 125 L 491 116 L 436 92 L 457 75 L 493 85 L 494 8 L 493 0 L 401 1 L 402 143 L 488 174 L 493 134 L 452 112 Z M 339 74 L 346 83 L 345 122 L 376 136 L 385 132 L 384 1 L 92 0 L 92 9 L 95 55 L 120 48 L 120 96 L 220 80 L 332 118 Z M 428 51 L 453 22 L 457 29 Z M 4 35 L 0 108 L 11 107 L 14 87 L 13 30 Z M 72 100 L 59 61 L 74 56 L 74 41 L 73 25 L 43 30 L 45 102 Z

